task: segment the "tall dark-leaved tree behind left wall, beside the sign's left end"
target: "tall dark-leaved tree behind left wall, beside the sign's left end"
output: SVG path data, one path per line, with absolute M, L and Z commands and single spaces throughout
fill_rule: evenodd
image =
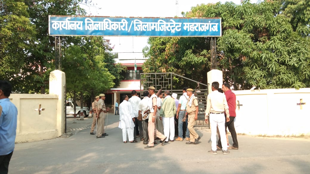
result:
M 83 15 L 79 7 L 82 0 L 24 0 L 28 6 L 29 19 L 35 25 L 37 34 L 32 38 L 33 44 L 28 49 L 27 59 L 21 70 L 23 79 L 19 82 L 24 93 L 41 93 L 47 91 L 49 73 L 55 69 L 55 37 L 48 35 L 48 15 Z M 80 37 L 62 37 L 62 48 L 79 43 Z

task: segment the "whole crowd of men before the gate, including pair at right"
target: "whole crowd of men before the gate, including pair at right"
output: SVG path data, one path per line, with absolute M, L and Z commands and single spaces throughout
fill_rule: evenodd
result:
M 208 153 L 217 154 L 217 150 L 222 150 L 223 154 L 229 154 L 228 149 L 238 149 L 237 134 L 234 128 L 236 96 L 227 83 L 222 85 L 221 90 L 219 83 L 213 82 L 211 89 L 213 92 L 207 97 L 205 112 L 205 121 L 210 122 L 212 141 L 211 150 Z M 196 144 L 200 140 L 201 137 L 194 129 L 199 108 L 193 89 L 185 87 L 179 100 L 177 94 L 170 95 L 168 90 L 156 95 L 153 86 L 148 87 L 148 91 L 144 91 L 142 100 L 135 90 L 131 94 L 131 98 L 127 95 L 122 96 L 123 102 L 119 105 L 119 128 L 122 129 L 124 143 L 127 143 L 127 136 L 129 142 L 137 142 L 137 129 L 140 141 L 147 145 L 144 149 L 153 148 L 154 144 L 157 144 L 155 140 L 160 140 L 161 145 L 169 141 L 183 141 L 183 138 L 187 141 L 185 144 Z M 165 97 L 163 98 L 162 95 Z M 227 128 L 233 140 L 230 147 Z M 217 132 L 218 142 L 216 142 Z M 174 139 L 175 136 L 177 138 Z

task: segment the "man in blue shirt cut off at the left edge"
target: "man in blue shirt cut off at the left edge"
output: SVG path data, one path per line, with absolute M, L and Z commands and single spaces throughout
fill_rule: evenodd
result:
M 15 147 L 17 108 L 10 102 L 12 86 L 8 81 L 0 80 L 0 173 L 7 174 Z

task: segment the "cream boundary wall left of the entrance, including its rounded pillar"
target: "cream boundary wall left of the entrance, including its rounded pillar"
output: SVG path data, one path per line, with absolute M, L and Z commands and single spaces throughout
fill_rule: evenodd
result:
M 50 94 L 11 94 L 17 107 L 15 142 L 30 142 L 61 136 L 65 130 L 65 74 L 50 73 Z

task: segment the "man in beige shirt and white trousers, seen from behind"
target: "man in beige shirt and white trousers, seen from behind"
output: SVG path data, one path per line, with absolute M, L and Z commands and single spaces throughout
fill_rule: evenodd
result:
M 205 120 L 208 123 L 208 115 L 210 115 L 210 127 L 211 127 L 211 150 L 208 151 L 210 154 L 217 154 L 216 151 L 216 126 L 219 128 L 219 134 L 222 143 L 223 154 L 229 154 L 226 145 L 226 136 L 225 136 L 225 115 L 227 115 L 227 121 L 229 121 L 229 111 L 226 101 L 226 97 L 223 93 L 218 91 L 219 82 L 215 81 L 212 83 L 211 92 L 207 97 L 207 106 L 206 106 L 206 115 Z

